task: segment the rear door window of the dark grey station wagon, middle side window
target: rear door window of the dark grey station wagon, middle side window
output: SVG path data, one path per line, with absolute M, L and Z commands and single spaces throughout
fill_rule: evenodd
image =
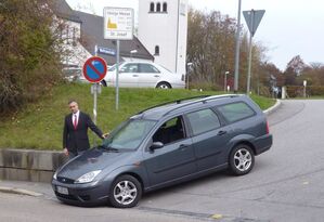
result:
M 194 135 L 220 128 L 218 116 L 211 109 L 203 109 L 186 115 Z

